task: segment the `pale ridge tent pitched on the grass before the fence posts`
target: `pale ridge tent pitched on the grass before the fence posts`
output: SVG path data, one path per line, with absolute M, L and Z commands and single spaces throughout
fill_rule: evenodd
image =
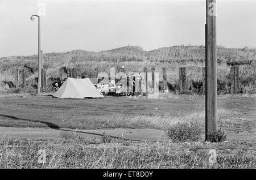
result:
M 90 82 L 89 78 L 68 78 L 61 87 L 52 95 L 59 98 L 102 98 L 100 91 Z

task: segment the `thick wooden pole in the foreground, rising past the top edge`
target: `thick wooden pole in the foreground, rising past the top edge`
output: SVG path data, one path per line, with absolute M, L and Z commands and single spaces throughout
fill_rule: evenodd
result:
M 216 0 L 206 1 L 207 28 L 205 44 L 205 140 L 217 132 L 217 38 Z

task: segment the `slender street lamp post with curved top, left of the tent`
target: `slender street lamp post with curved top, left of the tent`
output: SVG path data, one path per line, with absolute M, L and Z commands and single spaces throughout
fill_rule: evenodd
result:
M 39 15 L 32 15 L 30 20 L 33 22 L 35 19 L 34 19 L 34 16 L 38 17 L 38 95 L 41 94 L 41 88 L 42 88 L 42 85 L 41 85 L 41 56 L 40 56 L 40 51 L 41 51 L 41 44 L 40 44 L 40 16 Z

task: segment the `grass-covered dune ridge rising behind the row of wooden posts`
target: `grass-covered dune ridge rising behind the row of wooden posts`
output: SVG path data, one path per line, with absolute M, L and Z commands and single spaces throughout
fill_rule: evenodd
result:
M 51 89 L 52 80 L 59 78 L 59 68 L 81 67 L 84 74 L 88 74 L 94 68 L 100 68 L 102 72 L 110 73 L 110 67 L 125 66 L 126 72 L 141 72 L 143 67 L 150 70 L 156 68 L 162 80 L 162 67 L 167 68 L 167 80 L 174 88 L 178 84 L 179 67 L 188 67 L 188 83 L 201 82 L 201 67 L 205 65 L 204 46 L 172 46 L 169 48 L 159 48 L 151 51 L 144 51 L 138 46 L 126 46 L 103 52 L 87 52 L 85 50 L 73 50 L 66 53 L 46 53 L 43 55 L 44 68 L 47 70 L 48 88 Z M 217 48 L 218 57 L 218 91 L 229 91 L 230 67 L 226 65 L 228 61 L 249 61 L 251 65 L 240 66 L 240 86 L 242 92 L 255 93 L 256 77 L 256 50 L 255 49 L 228 49 L 219 46 Z M 27 79 L 31 84 L 35 84 L 37 69 L 37 55 L 16 56 L 0 58 L 0 82 L 14 82 L 15 68 L 22 69 L 29 67 L 35 74 L 31 74 Z M 31 85 L 30 84 L 30 85 Z M 6 92 L 5 84 L 0 85 L 0 91 Z M 176 88 L 177 89 L 177 88 Z M 25 91 L 27 91 L 25 89 Z

